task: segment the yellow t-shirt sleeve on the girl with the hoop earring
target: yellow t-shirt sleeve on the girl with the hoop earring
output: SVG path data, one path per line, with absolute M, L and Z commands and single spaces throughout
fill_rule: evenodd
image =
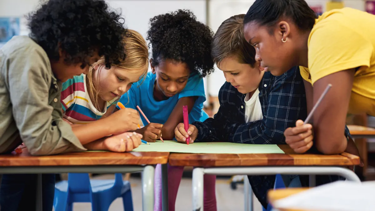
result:
M 335 72 L 369 67 L 374 50 L 360 32 L 335 20 L 323 20 L 314 26 L 308 48 L 312 84 Z

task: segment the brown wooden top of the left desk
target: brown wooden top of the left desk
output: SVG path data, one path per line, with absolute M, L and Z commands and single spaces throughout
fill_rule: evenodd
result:
M 27 149 L 18 155 L 0 155 L 1 166 L 98 166 L 165 164 L 169 152 L 72 152 L 59 155 L 32 156 Z

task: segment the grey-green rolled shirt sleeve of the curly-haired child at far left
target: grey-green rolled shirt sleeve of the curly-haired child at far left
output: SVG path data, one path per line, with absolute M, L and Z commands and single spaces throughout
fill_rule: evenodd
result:
M 54 108 L 48 102 L 52 73 L 45 58 L 38 50 L 9 58 L 10 101 L 21 139 L 32 155 L 86 150 L 71 126 L 62 121 L 61 106 Z

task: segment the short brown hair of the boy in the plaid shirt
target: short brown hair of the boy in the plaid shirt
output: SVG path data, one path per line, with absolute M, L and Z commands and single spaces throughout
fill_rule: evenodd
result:
M 255 49 L 246 42 L 243 35 L 243 18 L 245 14 L 234 15 L 219 26 L 211 45 L 211 55 L 216 64 L 228 56 L 237 57 L 243 64 L 254 68 Z

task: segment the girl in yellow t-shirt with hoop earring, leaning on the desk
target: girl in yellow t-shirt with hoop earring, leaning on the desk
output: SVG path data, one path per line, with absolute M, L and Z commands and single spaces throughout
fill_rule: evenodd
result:
M 245 38 L 273 75 L 300 66 L 308 112 L 328 84 L 311 124 L 285 130 L 298 152 L 315 146 L 324 154 L 358 154 L 344 136 L 347 113 L 375 116 L 375 16 L 344 8 L 319 18 L 305 0 L 256 0 L 244 19 Z M 288 143 L 288 144 L 289 144 Z

